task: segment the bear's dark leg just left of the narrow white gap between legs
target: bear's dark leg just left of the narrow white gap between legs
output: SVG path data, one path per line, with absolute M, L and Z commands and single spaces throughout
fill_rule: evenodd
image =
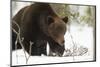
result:
M 46 53 L 46 44 L 44 40 L 37 40 L 34 42 L 31 48 L 31 55 L 41 56 L 41 54 L 47 55 Z

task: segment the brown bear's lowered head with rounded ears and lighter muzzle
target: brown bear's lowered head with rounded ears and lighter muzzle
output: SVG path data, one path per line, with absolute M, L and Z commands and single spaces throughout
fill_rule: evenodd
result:
M 59 45 L 64 45 L 64 34 L 66 33 L 66 23 L 68 18 L 61 19 L 59 17 L 48 17 L 48 33 L 49 36 Z

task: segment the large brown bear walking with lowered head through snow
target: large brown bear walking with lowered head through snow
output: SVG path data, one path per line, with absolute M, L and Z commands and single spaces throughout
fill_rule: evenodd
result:
M 24 38 L 24 49 L 29 53 L 30 41 L 31 55 L 46 53 L 46 45 L 58 56 L 62 56 L 64 48 L 64 34 L 68 18 L 61 19 L 51 8 L 49 3 L 35 3 L 22 8 L 12 19 L 20 27 L 20 37 Z M 12 28 L 18 31 L 17 25 L 12 22 Z M 15 49 L 17 36 L 12 31 L 12 49 Z M 17 48 L 21 48 L 17 43 Z

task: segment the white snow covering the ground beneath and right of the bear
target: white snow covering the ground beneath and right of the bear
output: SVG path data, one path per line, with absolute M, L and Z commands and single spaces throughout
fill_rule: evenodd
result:
M 93 46 L 93 28 L 72 25 L 70 26 L 70 32 L 65 34 L 65 48 L 69 50 L 65 53 L 65 57 L 30 56 L 27 64 L 91 61 L 94 59 Z M 83 48 L 87 49 L 85 53 Z M 12 52 L 12 65 L 25 64 L 26 59 L 22 49 Z

